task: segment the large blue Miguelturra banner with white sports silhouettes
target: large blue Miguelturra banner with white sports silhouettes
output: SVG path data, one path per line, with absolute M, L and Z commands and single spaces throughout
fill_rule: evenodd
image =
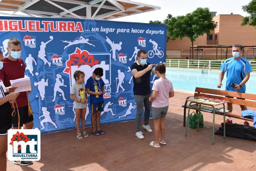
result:
M 110 124 L 135 119 L 130 67 L 137 60 L 137 52 L 146 50 L 151 64 L 166 60 L 166 26 L 158 24 L 1 17 L 0 48 L 4 56 L 8 55 L 10 38 L 21 41 L 25 75 L 32 84 L 29 100 L 34 128 L 41 133 L 76 128 L 70 100 L 76 70 L 85 73 L 86 82 L 95 68 L 103 68 L 106 94 L 101 124 Z M 155 79 L 152 74 L 151 86 Z M 85 117 L 86 126 L 90 126 L 90 107 Z

